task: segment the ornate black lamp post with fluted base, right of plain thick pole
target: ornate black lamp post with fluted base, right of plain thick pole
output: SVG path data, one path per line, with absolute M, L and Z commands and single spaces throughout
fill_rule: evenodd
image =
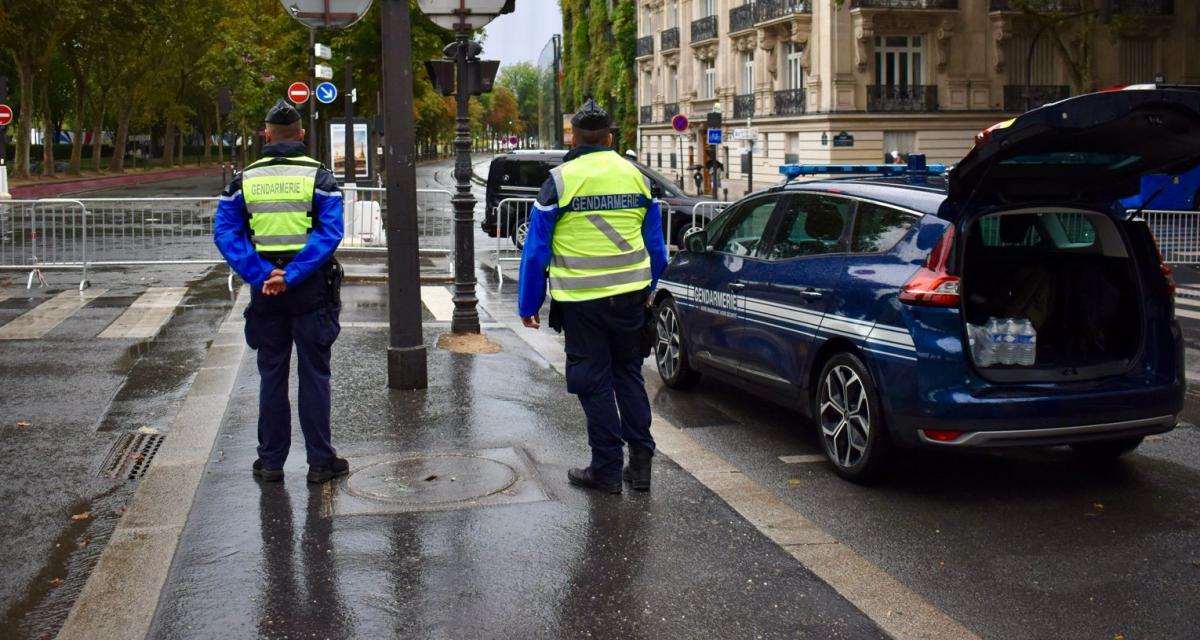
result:
M 516 0 L 418 0 L 434 24 L 455 32 L 444 49 L 444 60 L 426 64 L 433 84 L 456 96 L 454 204 L 454 316 L 450 331 L 479 333 L 479 299 L 475 297 L 475 197 L 470 193 L 470 96 L 491 91 L 499 68 L 494 60 L 480 60 L 482 47 L 472 36 L 497 16 L 512 13 Z M 454 79 L 451 80 L 451 67 Z

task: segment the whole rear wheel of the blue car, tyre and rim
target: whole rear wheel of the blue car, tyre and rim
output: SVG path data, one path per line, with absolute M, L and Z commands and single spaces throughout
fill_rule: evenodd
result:
M 821 369 L 812 407 L 821 449 L 834 472 L 853 483 L 878 479 L 890 442 L 878 390 L 863 360 L 853 353 L 830 358 Z

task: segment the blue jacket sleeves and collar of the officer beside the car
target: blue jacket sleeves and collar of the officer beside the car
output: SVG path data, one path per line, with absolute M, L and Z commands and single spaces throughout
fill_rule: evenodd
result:
M 581 146 L 566 154 L 564 162 L 595 151 L 607 151 L 607 146 Z M 517 312 L 522 318 L 538 315 L 546 301 L 546 269 L 550 268 L 551 240 L 554 237 L 554 225 L 558 222 L 558 187 L 551 178 L 541 185 L 538 203 L 529 215 L 529 234 L 526 237 L 521 253 L 521 275 L 517 281 Z M 650 288 L 658 286 L 659 276 L 667 268 L 667 245 L 662 240 L 662 213 L 654 202 L 646 210 L 642 221 L 642 241 L 650 253 Z

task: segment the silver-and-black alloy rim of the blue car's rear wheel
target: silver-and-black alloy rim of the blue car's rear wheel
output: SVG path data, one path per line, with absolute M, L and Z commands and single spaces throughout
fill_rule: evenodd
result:
M 866 387 L 853 369 L 838 365 L 821 382 L 820 420 L 826 451 L 840 467 L 853 467 L 866 455 L 871 406 Z

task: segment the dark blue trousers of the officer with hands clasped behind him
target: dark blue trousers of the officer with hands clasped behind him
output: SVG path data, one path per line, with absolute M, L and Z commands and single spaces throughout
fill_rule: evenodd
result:
M 341 331 L 341 307 L 334 303 L 325 274 L 281 295 L 253 292 L 246 309 L 246 343 L 258 352 L 258 457 L 265 468 L 283 468 L 292 448 L 292 405 L 288 377 L 295 345 L 300 393 L 300 431 L 308 465 L 324 466 L 337 451 L 330 442 L 329 360 Z

